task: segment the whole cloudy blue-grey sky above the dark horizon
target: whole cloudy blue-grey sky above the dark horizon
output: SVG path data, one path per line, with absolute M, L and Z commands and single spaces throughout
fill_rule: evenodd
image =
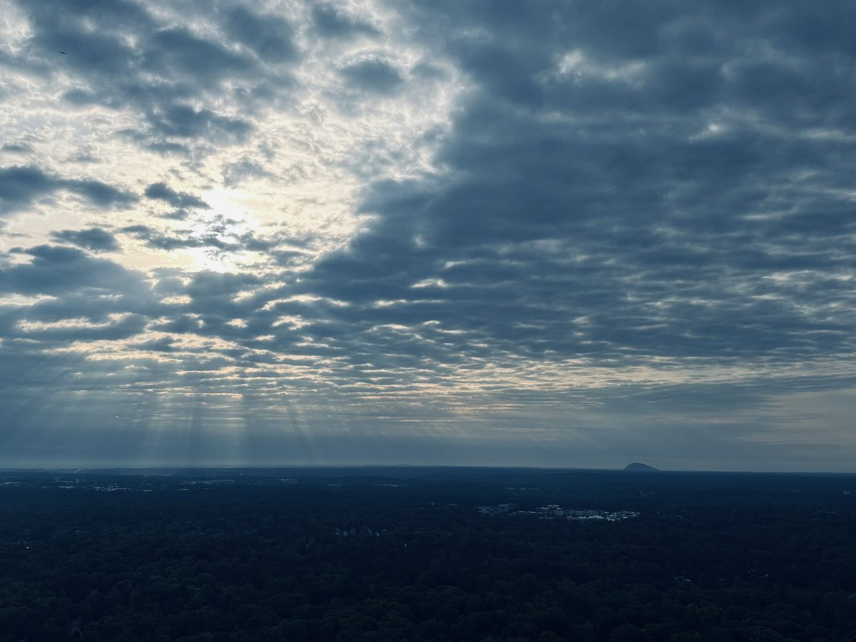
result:
M 854 21 L 0 0 L 0 466 L 853 472 Z

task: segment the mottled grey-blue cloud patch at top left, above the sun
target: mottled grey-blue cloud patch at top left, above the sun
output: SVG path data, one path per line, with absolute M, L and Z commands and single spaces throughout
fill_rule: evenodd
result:
M 271 81 L 279 88 L 291 85 L 288 71 L 268 68 L 299 56 L 291 27 L 279 15 L 239 3 L 215 11 L 187 7 L 211 21 L 209 28 L 191 29 L 137 3 L 106 8 L 81 0 L 75 7 L 73 15 L 64 15 L 52 3 L 21 3 L 33 48 L 17 63 L 46 74 L 50 60 L 51 68 L 70 74 L 74 86 L 62 96 L 71 105 L 133 110 L 146 124 L 127 134 L 148 149 L 189 153 L 183 140 L 245 140 L 254 128 L 257 92 L 270 93 L 263 87 Z M 57 51 L 67 55 L 56 60 Z M 217 95 L 239 106 L 241 116 L 234 106 L 224 109 Z

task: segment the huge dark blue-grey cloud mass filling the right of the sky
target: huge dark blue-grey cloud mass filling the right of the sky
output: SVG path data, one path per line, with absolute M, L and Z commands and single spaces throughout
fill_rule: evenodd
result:
M 841 127 L 829 106 L 846 103 L 748 94 L 757 80 L 746 83 L 740 70 L 758 52 L 728 38 L 724 30 L 738 21 L 728 12 L 720 22 L 665 4 L 635 17 L 566 9 L 559 18 L 533 10 L 524 19 L 516 9 L 418 4 L 422 35 L 443 41 L 479 87 L 440 149 L 448 178 L 375 183 L 362 205 L 375 223 L 319 262 L 304 279 L 307 291 L 363 309 L 399 301 L 395 312 L 378 314 L 385 318 L 419 319 L 439 307 L 453 329 L 550 360 L 738 358 L 799 367 L 807 353 L 850 354 L 853 335 L 829 311 L 853 297 L 841 288 L 809 293 L 778 276 L 810 270 L 798 280 L 819 284 L 823 274 L 849 269 L 842 259 L 852 242 L 840 230 L 850 229 L 851 208 L 822 196 L 829 181 L 847 184 L 827 164 L 842 141 L 808 135 Z M 709 47 L 688 59 L 691 44 L 671 40 L 687 24 Z M 568 33 L 580 36 L 575 68 L 562 62 Z M 788 61 L 772 62 L 788 75 L 766 74 L 771 83 L 783 91 L 796 80 L 817 82 L 811 68 L 823 56 L 794 64 L 781 33 L 758 35 L 782 51 L 765 59 Z M 740 107 L 718 116 L 728 105 Z M 799 113 L 802 124 L 770 131 L 744 109 L 791 127 Z M 817 163 L 829 168 L 823 179 Z M 806 200 L 792 198 L 794 172 L 817 176 L 800 185 Z M 796 247 L 794 225 L 819 220 L 814 199 L 841 213 Z M 419 282 L 444 286 L 416 296 Z M 436 306 L 420 301 L 434 297 Z

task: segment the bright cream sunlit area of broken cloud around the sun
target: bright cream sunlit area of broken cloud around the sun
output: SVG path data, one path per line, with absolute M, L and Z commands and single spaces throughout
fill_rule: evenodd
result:
M 66 229 L 64 238 L 77 242 L 86 240 L 70 230 L 103 230 L 118 244 L 84 247 L 107 251 L 112 264 L 134 270 L 129 274 L 136 275 L 144 288 L 141 293 L 147 285 L 156 286 L 154 298 L 135 306 L 163 309 L 142 333 L 131 331 L 125 338 L 114 330 L 116 336 L 103 341 L 97 340 L 98 333 L 115 329 L 128 315 L 104 316 L 92 309 L 88 317 L 21 318 L 15 325 L 19 341 L 64 334 L 70 341 L 45 354 L 56 355 L 57 363 L 62 354 L 79 360 L 72 368 L 71 388 L 76 380 L 96 380 L 92 372 L 104 368 L 98 364 L 115 364 L 104 372 L 104 381 L 114 390 L 110 394 L 121 395 L 125 389 L 150 400 L 224 395 L 234 401 L 249 392 L 272 395 L 265 401 L 269 404 L 285 394 L 289 377 L 315 379 L 313 366 L 323 360 L 311 354 L 249 348 L 245 354 L 269 362 L 266 375 L 242 362 L 235 354 L 247 351 L 247 345 L 205 336 L 216 323 L 199 312 L 181 317 L 187 323 L 179 335 L 161 328 L 174 327 L 171 315 L 191 307 L 193 300 L 181 294 L 181 288 L 199 280 L 194 274 L 208 275 L 205 279 L 242 275 L 248 288 L 243 298 L 257 304 L 266 290 L 276 290 L 276 282 L 282 288 L 294 278 L 282 282 L 283 275 L 310 268 L 365 227 L 366 215 L 358 206 L 367 181 L 435 171 L 433 150 L 449 128 L 449 110 L 459 91 L 455 69 L 446 65 L 441 71 L 443 63 L 437 62 L 435 73 L 414 70 L 425 51 L 401 41 L 396 16 L 376 3 L 355 3 L 347 12 L 339 8 L 330 13 L 344 31 L 327 39 L 312 30 L 312 11 L 318 9 L 308 3 L 271 5 L 266 10 L 275 16 L 270 21 L 273 30 L 265 30 L 259 23 L 264 18 L 238 4 L 223 11 L 225 21 L 212 19 L 201 4 L 181 11 L 172 3 L 150 3 L 145 10 L 122 4 L 112 9 L 114 15 L 110 10 L 84 11 L 76 24 L 79 35 L 62 45 L 71 51 L 59 58 L 58 46 L 54 49 L 62 38 L 48 44 L 45 39 L 51 36 L 39 33 L 54 28 L 51 17 L 31 9 L 27 3 L 21 10 L 4 7 L 2 16 L 4 46 L 26 61 L 5 76 L 0 126 L 12 134 L 6 150 L 15 154 L 5 160 L 13 171 L 23 167 L 28 172 L 18 171 L 12 181 L 33 183 L 32 197 L 24 184 L 24 200 L 9 201 L 4 211 L 11 214 L 0 248 L 11 252 L 7 265 L 25 264 L 27 255 L 15 253 L 15 248 L 56 241 L 56 230 Z M 253 29 L 263 33 L 248 31 Z M 353 33 L 345 33 L 348 29 Z M 126 60 L 117 61 L 115 71 L 109 61 L 87 67 L 92 56 L 104 55 L 87 51 L 88 38 L 93 46 L 124 50 L 116 53 Z M 235 39 L 223 49 L 212 44 L 223 38 Z M 168 45 L 166 51 L 150 50 L 153 40 Z M 181 42 L 169 51 L 176 40 Z M 187 100 L 182 77 L 193 83 L 187 75 L 193 71 L 181 57 L 186 54 L 213 56 L 211 65 L 219 56 L 227 67 L 252 71 L 224 76 L 213 66 L 200 69 L 208 80 Z M 204 67 L 206 62 L 199 59 L 198 64 Z M 119 71 L 122 65 L 124 72 Z M 385 85 L 373 84 L 372 74 L 378 72 L 387 74 Z M 101 80 L 108 81 L 104 92 L 98 86 Z M 163 98 L 158 92 L 165 92 Z M 13 190 L 13 198 L 19 199 L 15 194 Z M 305 297 L 286 297 L 280 305 L 300 303 Z M 32 300 L 17 293 L 6 298 L 9 305 L 19 306 Z M 42 300 L 62 306 L 62 295 Z M 235 301 L 240 306 L 241 295 Z M 92 301 L 96 308 L 105 302 L 102 295 Z M 276 305 L 276 299 L 269 303 Z M 290 320 L 275 322 L 273 329 L 284 324 L 297 331 L 303 325 L 294 322 L 299 316 L 279 318 Z M 239 332 L 247 326 L 240 317 L 222 324 Z M 75 336 L 86 339 L 75 341 Z M 259 330 L 253 341 L 277 340 L 281 336 Z M 324 348 L 306 340 L 294 346 L 298 352 Z M 278 383 L 271 388 L 274 381 Z M 79 394 L 104 410 L 110 394 L 83 385 Z M 68 422 L 68 408 L 77 404 L 68 406 L 63 395 L 57 394 L 55 401 L 67 408 L 59 417 Z M 46 401 L 46 406 L 53 402 Z M 142 406 L 152 413 L 147 425 L 170 424 L 151 403 Z M 176 404 L 167 407 L 175 410 Z M 229 413 L 208 402 L 194 412 L 205 414 L 206 425 L 238 429 L 247 423 L 223 419 Z M 108 408 L 96 423 L 116 425 L 113 419 L 123 417 Z

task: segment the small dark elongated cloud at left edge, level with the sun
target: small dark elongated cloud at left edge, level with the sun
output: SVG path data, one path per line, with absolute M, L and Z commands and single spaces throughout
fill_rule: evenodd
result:
M 128 207 L 137 197 L 101 181 L 65 179 L 46 174 L 38 167 L 0 169 L 0 213 L 27 209 L 34 201 L 50 197 L 57 190 L 77 193 L 99 207 Z

